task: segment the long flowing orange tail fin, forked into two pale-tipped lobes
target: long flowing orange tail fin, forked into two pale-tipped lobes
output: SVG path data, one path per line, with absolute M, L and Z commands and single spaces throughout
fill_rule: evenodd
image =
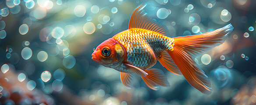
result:
M 231 24 L 200 35 L 174 38 L 174 50 L 168 51 L 174 63 L 192 87 L 204 94 L 211 94 L 209 78 L 196 66 L 192 57 L 223 43 L 233 30 Z

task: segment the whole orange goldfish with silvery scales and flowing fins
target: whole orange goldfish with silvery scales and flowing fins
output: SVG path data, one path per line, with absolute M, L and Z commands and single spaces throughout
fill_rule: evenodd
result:
M 150 89 L 170 87 L 163 70 L 151 68 L 159 61 L 170 72 L 183 75 L 192 87 L 211 94 L 210 79 L 193 58 L 222 44 L 233 26 L 229 24 L 199 35 L 170 38 L 167 27 L 150 18 L 144 7 L 146 3 L 133 11 L 127 30 L 98 45 L 92 59 L 120 71 L 121 82 L 126 88 L 132 88 L 134 74 L 142 77 Z

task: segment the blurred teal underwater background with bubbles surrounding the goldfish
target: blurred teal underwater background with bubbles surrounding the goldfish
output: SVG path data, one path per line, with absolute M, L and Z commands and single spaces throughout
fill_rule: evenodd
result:
M 118 71 L 91 59 L 144 2 L 169 37 L 233 25 L 222 45 L 194 59 L 212 94 L 159 62 L 153 68 L 164 70 L 170 88 L 153 91 L 136 76 L 127 89 Z M 0 0 L 0 105 L 255 105 L 254 28 L 256 0 Z

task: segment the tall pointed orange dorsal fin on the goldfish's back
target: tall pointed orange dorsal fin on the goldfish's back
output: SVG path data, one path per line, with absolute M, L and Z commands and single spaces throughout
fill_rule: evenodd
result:
M 129 28 L 142 28 L 150 31 L 155 31 L 162 35 L 169 35 L 168 28 L 160 23 L 157 23 L 143 10 L 146 7 L 146 3 L 142 3 L 137 7 L 130 18 Z

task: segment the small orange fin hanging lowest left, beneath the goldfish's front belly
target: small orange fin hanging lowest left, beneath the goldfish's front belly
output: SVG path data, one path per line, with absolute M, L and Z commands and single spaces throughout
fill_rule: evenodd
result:
M 133 76 L 130 73 L 120 72 L 121 81 L 124 84 L 124 87 L 131 89 L 133 84 Z

